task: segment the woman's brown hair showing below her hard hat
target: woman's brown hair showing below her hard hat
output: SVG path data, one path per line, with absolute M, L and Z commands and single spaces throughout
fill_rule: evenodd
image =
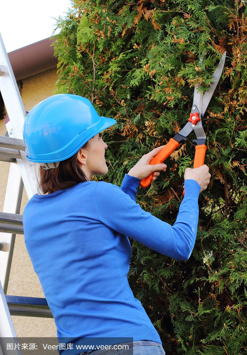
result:
M 90 140 L 88 140 L 81 148 L 89 150 L 89 141 Z M 39 177 L 37 177 L 36 173 L 36 178 L 41 193 L 45 194 L 46 192 L 52 193 L 57 190 L 64 190 L 68 187 L 75 186 L 79 182 L 88 181 L 76 159 L 77 154 L 78 152 L 72 155 L 72 157 L 62 160 L 57 168 L 45 170 L 39 165 Z

